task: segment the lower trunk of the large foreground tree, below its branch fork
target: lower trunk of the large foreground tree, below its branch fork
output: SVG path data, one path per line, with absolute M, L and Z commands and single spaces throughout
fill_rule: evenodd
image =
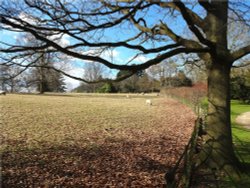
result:
M 208 126 L 202 157 L 208 157 L 206 164 L 212 170 L 235 171 L 239 167 L 232 143 L 230 68 L 229 63 L 220 61 L 208 68 Z

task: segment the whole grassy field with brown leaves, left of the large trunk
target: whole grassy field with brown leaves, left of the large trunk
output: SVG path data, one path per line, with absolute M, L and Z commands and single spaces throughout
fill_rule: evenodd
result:
M 195 120 L 179 102 L 153 95 L 0 101 L 2 187 L 163 187 Z

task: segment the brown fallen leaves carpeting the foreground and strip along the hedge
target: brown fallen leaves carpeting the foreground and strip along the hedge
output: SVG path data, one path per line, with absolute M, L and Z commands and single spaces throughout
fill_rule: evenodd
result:
M 166 98 L 153 108 L 151 127 L 145 129 L 136 126 L 139 117 L 131 117 L 131 125 L 92 130 L 61 143 L 37 140 L 35 147 L 32 138 L 5 135 L 2 187 L 164 187 L 164 175 L 183 152 L 195 116 Z

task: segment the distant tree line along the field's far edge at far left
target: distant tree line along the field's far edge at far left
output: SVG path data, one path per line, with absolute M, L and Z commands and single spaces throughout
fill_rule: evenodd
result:
M 44 54 L 37 61 L 36 67 L 29 68 L 29 71 L 18 74 L 20 67 L 4 66 L 0 67 L 0 87 L 1 90 L 13 92 L 64 92 L 66 84 L 63 75 L 53 70 L 52 58 Z M 44 68 L 51 67 L 51 68 Z

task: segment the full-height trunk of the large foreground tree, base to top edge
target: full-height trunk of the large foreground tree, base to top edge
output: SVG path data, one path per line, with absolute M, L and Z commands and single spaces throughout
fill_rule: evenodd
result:
M 213 170 L 238 171 L 234 153 L 230 116 L 230 69 L 233 59 L 227 48 L 228 1 L 212 1 L 206 17 L 210 28 L 206 35 L 212 42 L 205 57 L 208 73 L 207 135 L 201 159 Z M 233 170 L 233 171 L 232 171 Z

